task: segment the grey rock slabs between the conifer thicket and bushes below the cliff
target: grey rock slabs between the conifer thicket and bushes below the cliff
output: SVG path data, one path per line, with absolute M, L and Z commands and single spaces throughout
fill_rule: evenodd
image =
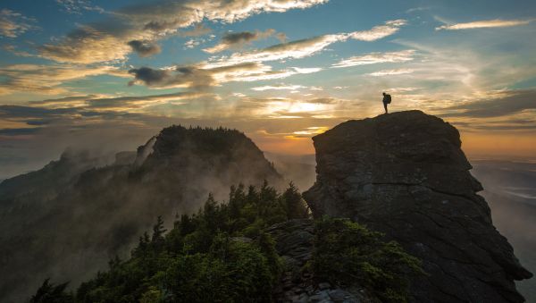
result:
M 266 232 L 275 239 L 275 248 L 285 262 L 281 285 L 275 290 L 278 302 L 377 302 L 368 297 L 363 289 L 343 290 L 329 282 L 317 281 L 312 274 L 302 271 L 313 253 L 312 220 L 290 220 L 272 225 Z

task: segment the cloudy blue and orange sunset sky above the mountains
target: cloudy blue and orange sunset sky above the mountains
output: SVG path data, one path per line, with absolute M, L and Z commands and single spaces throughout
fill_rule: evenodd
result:
M 0 179 L 172 124 L 313 154 L 383 91 L 469 156 L 534 157 L 534 37 L 532 0 L 2 0 Z

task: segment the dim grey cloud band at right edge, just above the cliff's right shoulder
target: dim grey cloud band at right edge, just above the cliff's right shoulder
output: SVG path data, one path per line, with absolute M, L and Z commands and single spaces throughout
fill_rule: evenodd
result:
M 446 108 L 444 117 L 489 118 L 536 110 L 536 90 L 519 89 L 498 92 L 489 100 L 479 100 Z

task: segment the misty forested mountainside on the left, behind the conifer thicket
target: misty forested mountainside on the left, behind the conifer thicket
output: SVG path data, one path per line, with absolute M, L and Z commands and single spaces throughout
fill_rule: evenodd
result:
M 43 169 L 0 184 L 0 301 L 28 298 L 46 278 L 72 285 L 129 256 L 158 215 L 172 223 L 209 192 L 233 184 L 281 186 L 263 153 L 237 130 L 172 126 L 135 153 L 100 166 L 66 153 Z

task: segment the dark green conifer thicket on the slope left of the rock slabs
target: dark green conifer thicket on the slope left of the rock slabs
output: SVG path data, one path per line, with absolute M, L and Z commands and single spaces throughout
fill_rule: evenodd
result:
M 159 217 L 129 260 L 111 260 L 108 271 L 61 301 L 270 302 L 281 260 L 263 229 L 306 216 L 292 184 L 282 194 L 266 182 L 260 189 L 232 187 L 228 203 L 210 195 L 197 214 L 181 215 L 167 233 Z

